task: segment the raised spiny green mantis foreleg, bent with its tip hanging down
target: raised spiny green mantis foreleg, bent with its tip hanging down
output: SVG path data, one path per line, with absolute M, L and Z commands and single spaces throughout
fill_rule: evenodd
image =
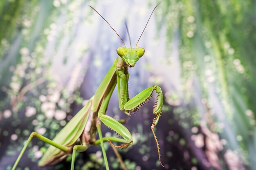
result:
M 157 93 L 155 105 L 153 108 L 153 113 L 156 115 L 156 117 L 153 119 L 153 123 L 151 126 L 152 133 L 154 135 L 155 141 L 157 143 L 157 151 L 158 151 L 158 157 L 159 157 L 159 162 L 161 163 L 160 159 L 160 149 L 159 149 L 159 144 L 157 141 L 157 137 L 155 136 L 154 128 L 157 125 L 160 115 L 162 113 L 162 107 L 163 107 L 163 93 L 162 90 L 159 86 L 154 85 L 149 88 L 146 88 L 144 91 L 141 91 L 138 95 L 130 99 L 125 105 L 124 109 L 125 110 L 132 110 L 132 111 L 137 111 L 138 108 L 140 108 L 146 101 L 152 97 L 152 93 L 155 91 Z M 163 165 L 162 165 L 163 166 Z

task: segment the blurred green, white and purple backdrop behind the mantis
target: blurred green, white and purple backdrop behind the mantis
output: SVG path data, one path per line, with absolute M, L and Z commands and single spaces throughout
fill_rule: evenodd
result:
M 135 46 L 158 2 L 138 44 L 146 52 L 129 69 L 129 92 L 162 88 L 156 135 L 165 168 L 150 130 L 154 97 L 128 118 L 115 89 L 107 114 L 128 120 L 134 144 L 120 151 L 127 169 L 256 169 L 255 0 L 0 0 L 0 170 L 11 168 L 31 132 L 53 139 L 117 57 L 121 40 L 88 5 L 129 44 L 126 20 Z M 121 169 L 105 146 L 110 168 Z M 47 147 L 33 139 L 17 170 L 69 169 L 70 157 L 38 168 Z M 104 169 L 101 148 L 75 164 Z

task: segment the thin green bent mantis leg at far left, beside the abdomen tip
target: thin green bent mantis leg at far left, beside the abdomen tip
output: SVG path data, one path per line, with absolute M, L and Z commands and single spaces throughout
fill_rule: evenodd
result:
M 13 165 L 13 167 L 12 167 L 11 170 L 15 170 L 15 168 L 17 167 L 17 165 L 18 165 L 18 163 L 19 163 L 19 161 L 20 161 L 20 158 L 22 157 L 22 155 L 23 155 L 23 153 L 25 152 L 27 146 L 29 145 L 29 142 L 31 141 L 31 139 L 32 139 L 33 137 L 36 137 L 36 138 L 40 139 L 41 141 L 44 141 L 44 142 L 46 142 L 46 143 L 48 143 L 48 144 L 50 144 L 50 145 L 52 145 L 52 146 L 55 146 L 56 148 L 58 148 L 58 149 L 60 149 L 60 150 L 63 150 L 63 151 L 65 151 L 65 152 L 68 151 L 68 147 L 67 147 L 67 146 L 62 146 L 62 145 L 57 144 L 57 143 L 55 143 L 54 141 L 52 141 L 52 140 L 50 140 L 50 139 L 48 139 L 48 138 L 46 138 L 46 137 L 43 137 L 42 135 L 39 135 L 39 134 L 36 133 L 36 132 L 32 132 L 32 133 L 30 134 L 30 136 L 29 136 L 29 139 L 27 139 L 26 144 L 25 144 L 24 147 L 22 148 L 22 150 L 21 150 L 21 152 L 20 152 L 20 155 L 18 156 L 18 159 L 17 159 L 16 162 L 14 163 L 14 165 Z

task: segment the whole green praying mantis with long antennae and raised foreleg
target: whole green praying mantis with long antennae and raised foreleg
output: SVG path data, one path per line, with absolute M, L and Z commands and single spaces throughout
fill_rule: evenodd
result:
M 157 4 L 155 8 L 158 5 L 159 4 Z M 153 9 L 153 11 L 155 10 L 155 8 Z M 96 11 L 94 8 L 92 9 Z M 101 16 L 101 18 L 103 17 Z M 103 20 L 105 19 L 103 18 Z M 148 22 L 146 23 L 146 26 L 147 24 Z M 108 25 L 112 28 L 112 26 L 109 23 Z M 144 30 L 146 29 L 146 26 Z M 115 29 L 113 30 L 115 31 Z M 143 32 L 141 33 L 141 35 L 143 34 Z M 118 35 L 116 31 L 115 33 Z M 141 35 L 139 37 L 139 40 L 141 38 Z M 120 36 L 119 38 L 121 39 Z M 139 40 L 137 41 L 137 44 Z M 124 43 L 122 39 L 121 41 Z M 128 67 L 135 66 L 136 62 L 139 60 L 139 58 L 141 58 L 144 55 L 145 52 L 143 48 L 137 47 L 137 44 L 135 48 L 126 48 L 126 45 L 124 43 L 124 47 L 119 46 L 117 48 L 118 57 L 114 61 L 113 65 L 109 69 L 104 79 L 102 80 L 94 96 L 92 96 L 88 100 L 85 106 L 83 106 L 83 108 L 66 124 L 66 126 L 56 135 L 56 137 L 54 137 L 53 140 L 47 139 L 46 137 L 43 137 L 42 135 L 36 132 L 31 133 L 24 147 L 22 148 L 20 155 L 18 156 L 18 159 L 14 163 L 12 170 L 15 170 L 15 168 L 17 167 L 18 162 L 20 161 L 23 153 L 25 152 L 25 149 L 27 148 L 29 142 L 33 137 L 36 137 L 50 144 L 49 148 L 47 149 L 43 157 L 40 159 L 38 166 L 55 165 L 56 163 L 65 159 L 67 155 L 72 153 L 71 170 L 74 170 L 76 152 L 84 152 L 90 145 L 101 145 L 106 170 L 109 170 L 108 160 L 103 143 L 108 141 L 110 145 L 112 145 L 115 148 L 127 148 L 133 142 L 132 135 L 130 134 L 129 130 L 120 123 L 121 121 L 115 120 L 114 118 L 105 114 L 110 97 L 116 85 L 118 87 L 119 108 L 120 110 L 124 110 L 124 113 L 126 113 L 129 116 L 131 111 L 137 111 L 138 108 L 140 108 L 140 106 L 142 106 L 147 100 L 149 100 L 150 97 L 152 97 L 153 91 L 157 93 L 156 102 L 153 108 L 153 113 L 156 115 L 156 117 L 153 119 L 151 130 L 157 143 L 159 162 L 162 165 L 160 160 L 159 144 L 154 132 L 154 128 L 157 125 L 160 115 L 162 113 L 162 90 L 159 86 L 154 85 L 149 88 L 146 88 L 144 91 L 141 91 L 132 99 L 129 98 Z M 117 137 L 102 137 L 101 122 L 111 130 L 117 132 L 117 134 L 119 134 L 123 139 Z M 99 134 L 98 140 L 96 140 L 97 132 Z M 116 146 L 112 142 L 118 142 L 121 144 Z

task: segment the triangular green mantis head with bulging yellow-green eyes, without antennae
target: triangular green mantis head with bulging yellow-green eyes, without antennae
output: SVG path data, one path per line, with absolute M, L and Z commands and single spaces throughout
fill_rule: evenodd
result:
M 117 54 L 126 62 L 129 67 L 135 66 L 136 62 L 142 55 L 144 55 L 145 50 L 143 48 L 125 48 L 119 46 L 117 48 Z

